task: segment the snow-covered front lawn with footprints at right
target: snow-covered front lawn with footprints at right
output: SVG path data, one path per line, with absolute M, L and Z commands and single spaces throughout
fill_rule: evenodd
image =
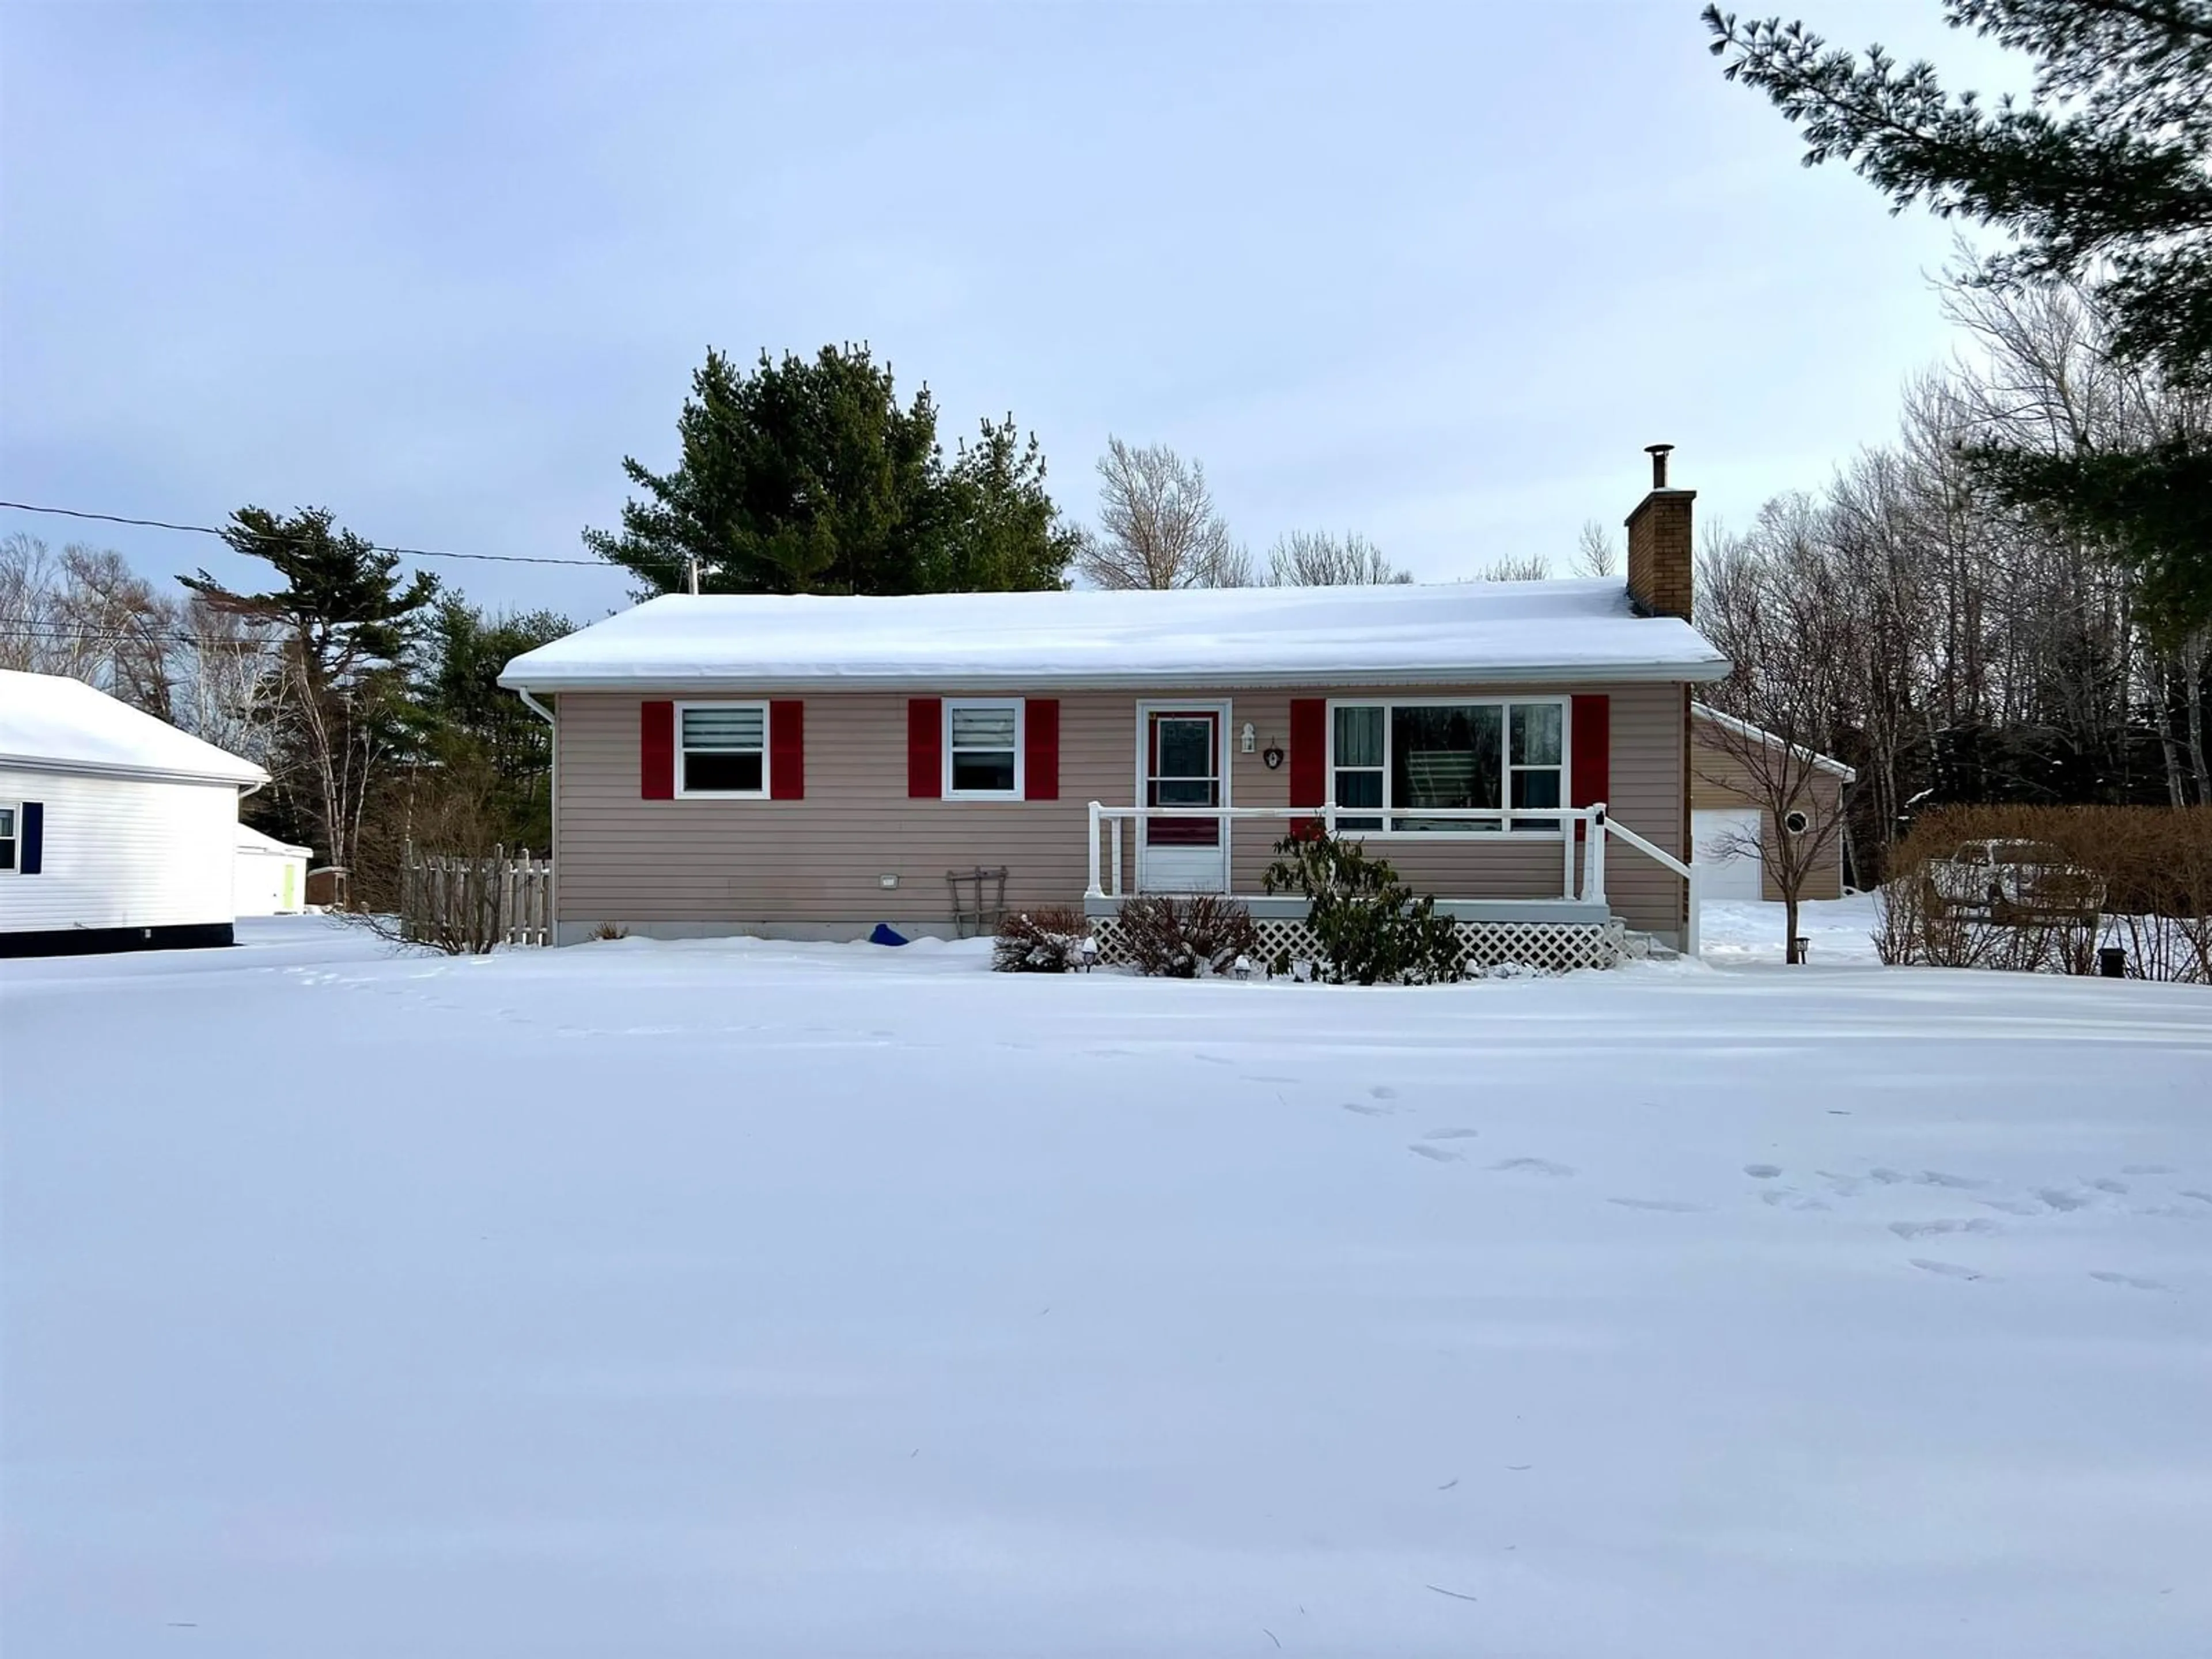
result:
M 252 940 L 0 964 L 9 1659 L 2212 1652 L 2201 989 Z

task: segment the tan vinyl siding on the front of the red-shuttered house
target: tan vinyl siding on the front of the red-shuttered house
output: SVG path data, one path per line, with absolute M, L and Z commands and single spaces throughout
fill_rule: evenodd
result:
M 1571 697 L 1577 688 L 1513 695 Z M 1588 690 L 1588 688 L 1584 688 Z M 960 697 L 958 688 L 947 697 Z M 1323 692 L 1298 692 L 1323 695 Z M 1391 697 L 1360 690 L 1356 697 Z M 1504 695 L 1484 688 L 1398 692 L 1402 701 Z M 668 695 L 664 695 L 668 697 Z M 803 801 L 639 799 L 641 695 L 564 692 L 557 701 L 560 783 L 555 860 L 560 920 L 593 925 L 945 927 L 947 869 L 1004 865 L 1009 905 L 1079 902 L 1086 805 L 1130 805 L 1137 792 L 1137 706 L 1230 703 L 1223 741 L 1232 805 L 1287 805 L 1290 765 L 1261 752 L 1290 745 L 1290 692 L 1192 690 L 1188 697 L 1071 692 L 1060 697 L 1057 801 L 909 801 L 907 697 L 807 697 Z M 1683 776 L 1679 686 L 1621 686 L 1613 697 L 1610 807 L 1621 823 L 1681 856 Z M 1245 721 L 1254 752 L 1239 750 Z M 1256 894 L 1281 823 L 1232 830 L 1232 885 Z M 1124 834 L 1124 883 L 1135 887 L 1135 827 Z M 1557 898 L 1557 841 L 1425 843 L 1378 838 L 1418 891 L 1442 898 Z M 1681 925 L 1681 883 L 1644 856 L 1608 847 L 1608 894 L 1632 927 Z M 885 891 L 878 876 L 896 874 Z

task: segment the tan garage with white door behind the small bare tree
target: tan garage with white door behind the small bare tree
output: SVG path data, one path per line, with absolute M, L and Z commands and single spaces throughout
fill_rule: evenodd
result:
M 1732 741 L 1730 741 L 1732 739 Z M 1690 703 L 1690 847 L 1699 865 L 1703 898 L 1778 900 L 1765 849 L 1778 836 L 1805 834 L 1803 827 L 1776 823 L 1767 792 L 1759 790 L 1745 765 L 1745 743 L 1781 748 L 1781 739 L 1730 714 Z M 1787 787 L 1785 772 L 1772 772 Z M 1829 823 L 1843 812 L 1843 790 L 1858 772 L 1829 754 L 1803 752 L 1805 803 L 1812 823 Z M 1781 790 L 1774 790 L 1776 794 Z M 1832 852 L 1807 874 L 1798 898 L 1843 898 L 1843 834 Z

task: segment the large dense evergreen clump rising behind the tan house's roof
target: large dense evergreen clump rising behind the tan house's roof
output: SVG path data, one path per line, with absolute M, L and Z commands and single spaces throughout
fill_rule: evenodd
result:
M 900 405 L 865 345 L 812 361 L 761 352 L 741 374 L 708 352 L 668 473 L 622 462 L 639 495 L 584 544 L 653 593 L 922 593 L 1057 586 L 1064 538 L 1035 440 L 984 422 L 951 469 L 927 387 Z

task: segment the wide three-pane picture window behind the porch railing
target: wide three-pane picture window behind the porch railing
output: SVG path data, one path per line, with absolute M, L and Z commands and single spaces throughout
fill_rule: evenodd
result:
M 1329 776 L 1340 830 L 1385 834 L 1557 832 L 1555 818 L 1436 812 L 1557 807 L 1566 801 L 1566 703 L 1338 703 Z M 1363 812 L 1374 807 L 1374 812 Z M 1349 810 L 1349 812 L 1347 812 Z

